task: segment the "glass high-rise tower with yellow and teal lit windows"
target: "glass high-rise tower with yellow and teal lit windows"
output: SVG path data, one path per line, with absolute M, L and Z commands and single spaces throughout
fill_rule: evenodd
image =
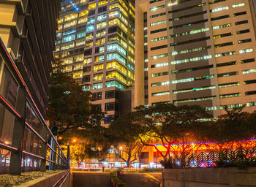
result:
M 108 112 L 105 124 L 132 109 L 134 25 L 133 0 L 61 2 L 55 56 Z

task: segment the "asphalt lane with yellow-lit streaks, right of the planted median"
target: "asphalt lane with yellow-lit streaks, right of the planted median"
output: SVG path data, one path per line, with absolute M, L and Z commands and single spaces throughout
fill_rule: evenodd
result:
M 129 173 L 119 175 L 124 183 L 131 187 L 159 187 L 162 180 L 162 173 Z

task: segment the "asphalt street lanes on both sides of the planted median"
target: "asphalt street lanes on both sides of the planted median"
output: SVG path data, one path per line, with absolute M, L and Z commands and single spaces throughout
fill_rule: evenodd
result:
M 161 173 L 124 173 L 118 178 L 130 187 L 159 187 Z M 112 187 L 110 173 L 102 172 L 73 172 L 73 187 Z

